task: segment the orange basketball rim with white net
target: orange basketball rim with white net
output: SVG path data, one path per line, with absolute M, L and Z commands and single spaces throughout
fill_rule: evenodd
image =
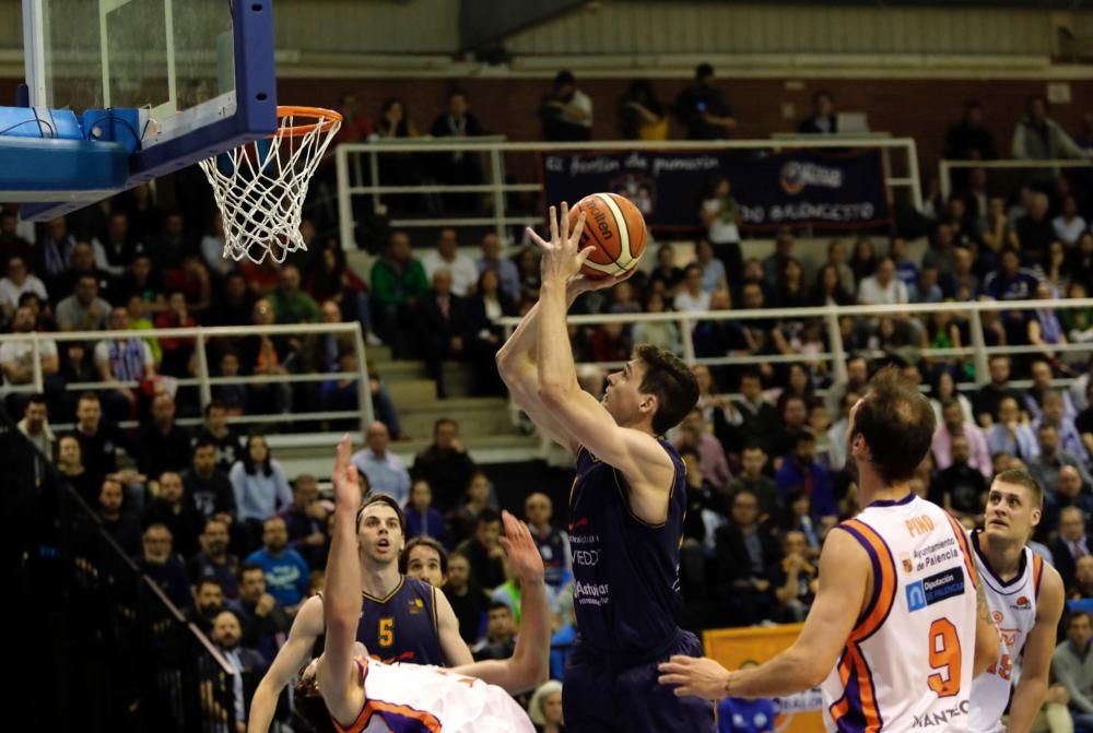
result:
M 224 220 L 224 257 L 280 264 L 307 249 L 299 234 L 307 185 L 342 116 L 319 107 L 278 107 L 277 131 L 201 161 Z

